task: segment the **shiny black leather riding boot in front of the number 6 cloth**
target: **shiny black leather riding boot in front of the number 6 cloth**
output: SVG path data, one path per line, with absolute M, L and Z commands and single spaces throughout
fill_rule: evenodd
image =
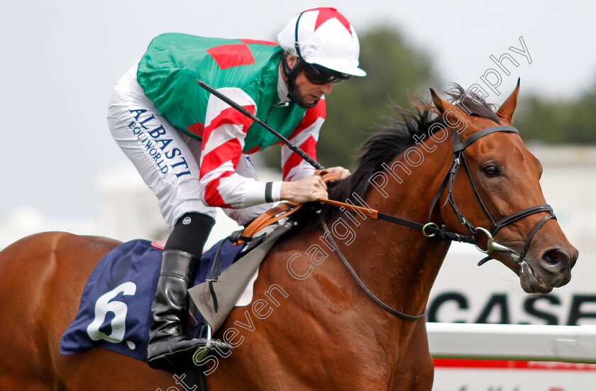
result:
M 151 368 L 176 369 L 192 363 L 192 354 L 205 346 L 204 338 L 188 338 L 184 326 L 188 317 L 190 276 L 199 260 L 181 250 L 165 250 L 158 289 L 151 311 L 147 361 Z

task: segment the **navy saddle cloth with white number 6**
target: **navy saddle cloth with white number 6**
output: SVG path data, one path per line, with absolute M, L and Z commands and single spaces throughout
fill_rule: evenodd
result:
M 220 243 L 203 254 L 195 285 L 208 277 Z M 243 246 L 233 246 L 224 239 L 221 270 L 232 265 L 242 249 Z M 162 250 L 140 239 L 123 243 L 107 253 L 87 280 L 79 312 L 60 339 L 60 353 L 80 353 L 100 346 L 145 361 L 161 256 Z M 195 317 L 201 324 L 202 316 Z M 198 334 L 197 326 L 191 335 Z

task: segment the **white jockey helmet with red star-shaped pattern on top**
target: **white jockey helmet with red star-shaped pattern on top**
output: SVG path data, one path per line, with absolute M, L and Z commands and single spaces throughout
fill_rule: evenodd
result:
M 281 47 L 309 64 L 338 74 L 365 76 L 358 67 L 360 45 L 350 22 L 334 8 L 307 9 L 277 35 Z

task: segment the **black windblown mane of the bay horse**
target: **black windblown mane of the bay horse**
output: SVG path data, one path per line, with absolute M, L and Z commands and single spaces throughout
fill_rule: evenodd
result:
M 468 115 L 500 123 L 495 114 L 494 105 L 487 104 L 477 94 L 466 93 L 459 84 L 453 84 L 451 89 L 442 93 L 446 94 L 449 101 L 460 102 L 465 106 L 471 112 Z M 375 172 L 383 169 L 383 163 L 389 164 L 399 154 L 415 145 L 416 138 L 414 136 L 422 137 L 428 134 L 429 128 L 435 123 L 446 125 L 441 116 L 437 115 L 432 104 L 417 96 L 412 97 L 411 102 L 414 106 L 412 110 L 404 109 L 397 104 L 392 105 L 397 118 L 384 117 L 388 124 L 373 128 L 376 132 L 360 146 L 360 153 L 353 165 L 352 174 L 343 180 L 328 184 L 329 199 L 346 202 L 347 199 L 353 200 L 353 193 L 364 199 L 370 188 L 368 180 Z M 440 127 L 436 126 L 435 129 L 437 128 Z M 336 206 L 325 204 L 321 207 L 319 205 L 318 202 L 311 203 L 311 206 L 321 210 L 320 213 L 324 219 L 332 219 L 339 213 Z M 302 210 L 304 211 L 293 215 L 293 221 L 298 226 L 316 224 L 316 219 L 313 219 L 313 208 L 306 207 Z

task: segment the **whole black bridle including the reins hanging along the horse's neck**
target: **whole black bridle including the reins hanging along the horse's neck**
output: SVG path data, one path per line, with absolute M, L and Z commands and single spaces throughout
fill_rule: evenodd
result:
M 334 202 L 331 200 L 327 200 L 325 202 L 329 203 L 329 204 L 336 205 L 336 206 L 341 206 L 341 207 L 349 206 L 352 209 L 358 209 L 359 211 L 364 211 L 369 216 L 372 216 L 373 219 L 381 219 L 381 220 L 389 221 L 390 223 L 393 223 L 393 224 L 399 224 L 401 226 L 407 226 L 409 228 L 418 229 L 418 230 L 422 231 L 424 236 L 426 236 L 428 238 L 437 238 L 437 239 L 439 239 L 441 241 L 445 241 L 447 243 L 451 243 L 451 241 L 459 241 L 459 242 L 463 242 L 463 243 L 473 244 L 482 253 L 487 254 L 487 256 L 485 258 L 480 260 L 478 265 L 482 265 L 482 264 L 486 263 L 487 260 L 492 259 L 490 254 L 495 250 L 501 251 L 501 252 L 514 253 L 514 254 L 518 255 L 517 265 L 519 267 L 519 265 L 521 265 L 521 263 L 524 262 L 524 258 L 526 256 L 527 251 L 530 248 L 532 238 L 534 238 L 534 235 L 536 235 L 536 232 L 538 232 L 538 230 L 541 228 L 541 226 L 543 226 L 546 223 L 546 221 L 548 221 L 550 219 L 556 219 L 556 216 L 553 213 L 553 208 L 550 205 L 543 204 L 543 205 L 536 205 L 536 206 L 531 206 L 526 209 L 522 209 L 521 211 L 514 212 L 513 214 L 509 214 L 509 216 L 505 216 L 502 219 L 499 219 L 496 221 L 492 217 L 492 215 L 488 211 L 486 205 L 484 204 L 484 202 L 482 202 L 482 198 L 480 197 L 480 194 L 478 193 L 478 189 L 476 188 L 476 185 L 474 183 L 472 173 L 470 172 L 470 168 L 468 167 L 468 163 L 466 163 L 466 161 L 465 161 L 465 156 L 463 154 L 463 151 L 465 150 L 465 148 L 468 148 L 470 145 L 472 145 L 475 141 L 478 141 L 478 139 L 485 137 L 491 133 L 497 133 L 497 132 L 519 134 L 519 131 L 517 131 L 517 129 L 512 126 L 491 126 L 490 128 L 485 128 L 485 129 L 482 129 L 481 131 L 478 131 L 477 133 L 473 134 L 472 136 L 466 138 L 465 141 L 461 141 L 461 138 L 457 132 L 454 134 L 454 136 L 453 136 L 453 164 L 451 165 L 450 170 L 447 172 L 445 178 L 443 179 L 443 182 L 441 183 L 441 186 L 439 187 L 439 189 L 436 192 L 436 195 L 433 199 L 433 202 L 431 204 L 431 209 L 429 211 L 429 221 L 430 221 L 429 223 L 420 224 L 415 221 L 402 219 L 400 217 L 392 216 L 390 214 L 384 214 L 384 213 L 381 213 L 374 209 L 368 209 L 368 208 L 354 206 L 353 204 L 343 204 L 341 202 Z M 472 187 L 474 195 L 475 195 L 476 199 L 478 200 L 478 204 L 480 204 L 482 211 L 484 212 L 484 214 L 487 216 L 487 218 L 490 221 L 490 224 L 491 224 L 490 230 L 487 228 L 484 228 L 484 227 L 480 227 L 480 226 L 478 226 L 478 227 L 473 226 L 473 224 L 471 224 L 470 221 L 468 221 L 468 219 L 466 219 L 465 216 L 463 216 L 463 213 L 461 213 L 456 202 L 453 200 L 453 182 L 455 182 L 456 175 L 457 175 L 458 170 L 461 165 L 463 165 L 465 172 L 468 175 L 468 180 L 470 182 L 470 185 Z M 461 224 L 463 224 L 466 228 L 468 228 L 468 231 L 470 231 L 470 235 L 462 235 L 460 233 L 450 231 L 444 224 L 441 225 L 441 227 L 439 227 L 438 224 L 431 222 L 432 221 L 431 217 L 432 217 L 434 210 L 436 209 L 436 205 L 438 204 L 438 199 L 441 197 L 441 194 L 443 194 L 445 189 L 447 189 L 447 199 L 446 199 L 445 204 L 448 202 L 451 205 L 451 208 L 453 209 L 453 212 L 456 214 L 458 220 L 461 222 Z M 443 206 L 445 206 L 445 204 L 443 204 Z M 532 228 L 531 232 L 529 233 L 528 238 L 526 239 L 526 243 L 524 245 L 524 248 L 522 249 L 522 253 L 517 253 L 517 251 L 513 250 L 512 248 L 504 246 L 504 245 L 497 243 L 495 241 L 494 237 L 497 235 L 497 232 L 499 232 L 500 229 L 503 228 L 504 226 L 512 224 L 515 221 L 523 219 L 524 217 L 531 216 L 532 214 L 541 213 L 541 212 L 548 212 L 548 215 L 544 216 L 543 219 L 541 219 L 534 226 L 534 228 Z M 418 320 L 418 319 L 422 319 L 422 318 L 424 318 L 424 316 L 426 316 L 426 312 L 424 312 L 423 314 L 420 314 L 420 315 L 404 314 L 403 312 L 400 312 L 397 309 L 393 309 L 392 307 L 388 306 L 387 304 L 382 302 L 378 297 L 376 297 L 375 294 L 373 294 L 373 292 L 371 292 L 368 289 L 368 287 L 366 287 L 364 282 L 362 280 L 360 280 L 360 277 L 358 277 L 356 272 L 353 270 L 350 263 L 346 259 L 345 255 L 343 255 L 343 253 L 341 253 L 341 250 L 337 246 L 337 243 L 333 240 L 333 235 L 331 235 L 329 228 L 327 228 L 327 225 L 326 225 L 324 219 L 322 219 L 322 217 L 320 215 L 319 215 L 319 221 L 325 231 L 324 237 L 328 238 L 327 240 L 329 241 L 331 246 L 333 246 L 333 249 L 335 250 L 336 254 L 342 260 L 344 265 L 346 265 L 346 268 L 348 268 L 348 271 L 354 277 L 356 282 L 358 282 L 358 285 L 360 285 L 360 287 L 365 291 L 366 294 L 368 294 L 368 296 L 371 299 L 373 299 L 373 301 L 375 301 L 377 304 L 379 304 L 380 307 L 382 307 L 383 309 L 387 310 L 387 312 L 390 312 L 391 314 L 399 316 L 402 319 Z M 478 235 L 478 232 L 481 232 L 483 235 L 485 235 L 487 237 L 486 250 L 483 250 L 477 244 L 476 236 Z

